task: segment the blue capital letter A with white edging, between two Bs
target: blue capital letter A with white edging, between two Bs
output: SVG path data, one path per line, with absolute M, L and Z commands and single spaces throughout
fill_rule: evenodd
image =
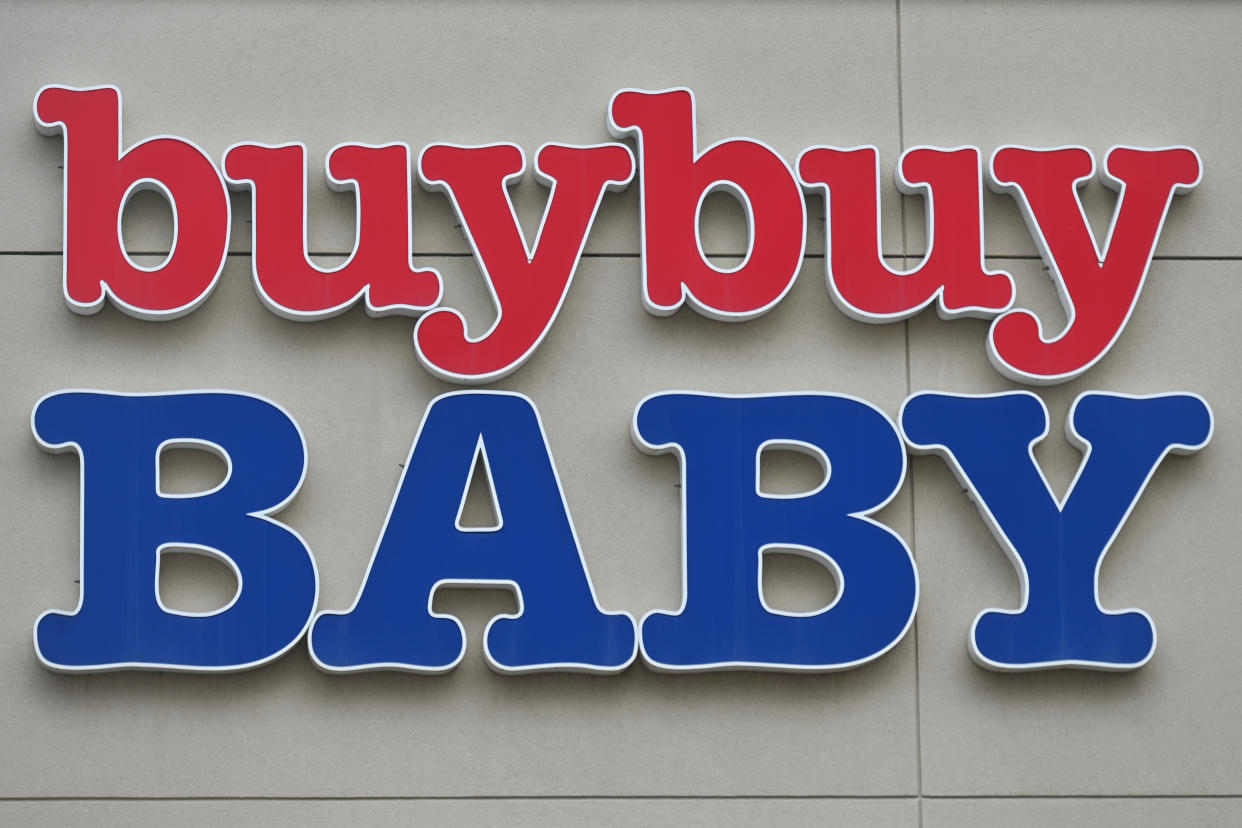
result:
M 501 525 L 458 525 L 476 453 L 492 479 Z M 440 586 L 503 586 L 518 613 L 493 618 L 488 664 L 502 673 L 615 673 L 637 653 L 633 618 L 600 610 L 551 463 L 527 397 L 460 391 L 432 401 L 396 497 L 348 612 L 322 612 L 310 657 L 329 672 L 443 673 L 466 652 L 462 624 L 436 614 Z

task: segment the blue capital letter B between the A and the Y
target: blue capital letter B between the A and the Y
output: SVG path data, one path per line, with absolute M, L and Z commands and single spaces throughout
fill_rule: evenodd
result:
M 678 612 L 642 619 L 653 668 L 836 670 L 905 634 L 918 603 L 914 560 L 867 518 L 905 477 L 902 438 L 878 408 L 827 394 L 660 394 L 635 411 L 633 438 L 682 462 L 684 597 Z M 760 493 L 759 454 L 773 443 L 822 452 L 825 484 L 797 497 Z M 760 556 L 770 546 L 833 565 L 836 602 L 810 616 L 764 606 Z

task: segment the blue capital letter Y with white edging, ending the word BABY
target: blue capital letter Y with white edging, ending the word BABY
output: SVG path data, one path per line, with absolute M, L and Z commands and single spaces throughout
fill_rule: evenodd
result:
M 1079 396 L 1066 432 L 1086 457 L 1061 502 L 1035 461 L 1048 410 L 1033 394 L 917 394 L 900 420 L 910 447 L 940 454 L 970 489 L 1017 570 L 1021 606 L 985 610 L 971 627 L 979 664 L 1126 670 L 1148 663 L 1151 618 L 1100 607 L 1099 564 L 1165 454 L 1207 444 L 1212 412 L 1201 397 Z

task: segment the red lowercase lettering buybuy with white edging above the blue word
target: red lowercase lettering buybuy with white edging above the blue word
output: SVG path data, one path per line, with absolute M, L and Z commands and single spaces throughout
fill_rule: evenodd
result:
M 522 233 L 507 186 L 525 170 L 514 144 L 431 144 L 416 164 L 410 148 L 339 144 L 328 153 L 328 184 L 354 191 L 356 237 L 335 269 L 306 250 L 306 146 L 238 143 L 220 168 L 195 144 L 160 135 L 122 150 L 116 87 L 48 86 L 35 97 L 35 120 L 65 134 L 65 298 L 78 313 L 106 299 L 144 319 L 173 319 L 199 307 L 215 287 L 229 248 L 227 187 L 250 190 L 255 287 L 274 313 L 314 320 L 361 302 L 368 313 L 421 317 L 414 343 L 436 376 L 477 384 L 514 371 L 546 335 L 569 290 L 604 194 L 641 178 L 643 304 L 671 314 L 683 304 L 723 320 L 758 317 L 781 300 L 806 242 L 804 190 L 827 202 L 827 284 L 854 319 L 907 319 L 935 304 L 946 319 L 995 319 L 992 364 L 1007 377 L 1062 382 L 1094 365 L 1125 326 L 1155 252 L 1172 196 L 1201 176 L 1185 146 L 1114 146 L 1100 178 L 1118 191 L 1105 243 L 1097 243 L 1077 187 L 1095 171 L 1082 146 L 1001 146 L 987 164 L 974 146 L 907 149 L 897 165 L 902 192 L 927 199 L 928 252 L 908 272 L 879 254 L 879 159 L 874 146 L 812 146 L 790 164 L 761 142 L 733 138 L 699 150 L 689 89 L 622 89 L 609 104 L 609 129 L 625 144 L 544 144 L 535 178 L 549 187 L 534 245 Z M 411 169 L 411 166 L 414 169 Z M 445 194 L 460 217 L 496 302 L 496 323 L 471 338 L 463 317 L 440 305 L 441 278 L 411 256 L 412 175 Z M 1013 309 L 1013 281 L 989 271 L 982 250 L 982 185 L 1011 194 L 1022 209 L 1066 305 L 1068 326 L 1046 336 L 1030 312 Z M 127 254 L 120 215 L 138 190 L 155 189 L 173 206 L 173 246 L 143 267 Z M 705 196 L 727 191 L 748 218 L 738 267 L 713 264 L 699 242 Z

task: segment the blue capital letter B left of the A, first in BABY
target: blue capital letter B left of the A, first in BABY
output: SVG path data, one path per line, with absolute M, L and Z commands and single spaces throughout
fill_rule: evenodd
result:
M 242 670 L 265 664 L 306 632 L 319 595 L 310 550 L 267 515 L 306 474 L 297 423 L 245 394 L 52 394 L 35 406 L 40 444 L 82 458 L 82 597 L 72 613 L 35 623 L 51 669 Z M 161 494 L 159 453 L 204 446 L 229 464 L 216 489 Z M 186 546 L 230 562 L 238 591 L 206 614 L 165 610 L 160 550 Z

